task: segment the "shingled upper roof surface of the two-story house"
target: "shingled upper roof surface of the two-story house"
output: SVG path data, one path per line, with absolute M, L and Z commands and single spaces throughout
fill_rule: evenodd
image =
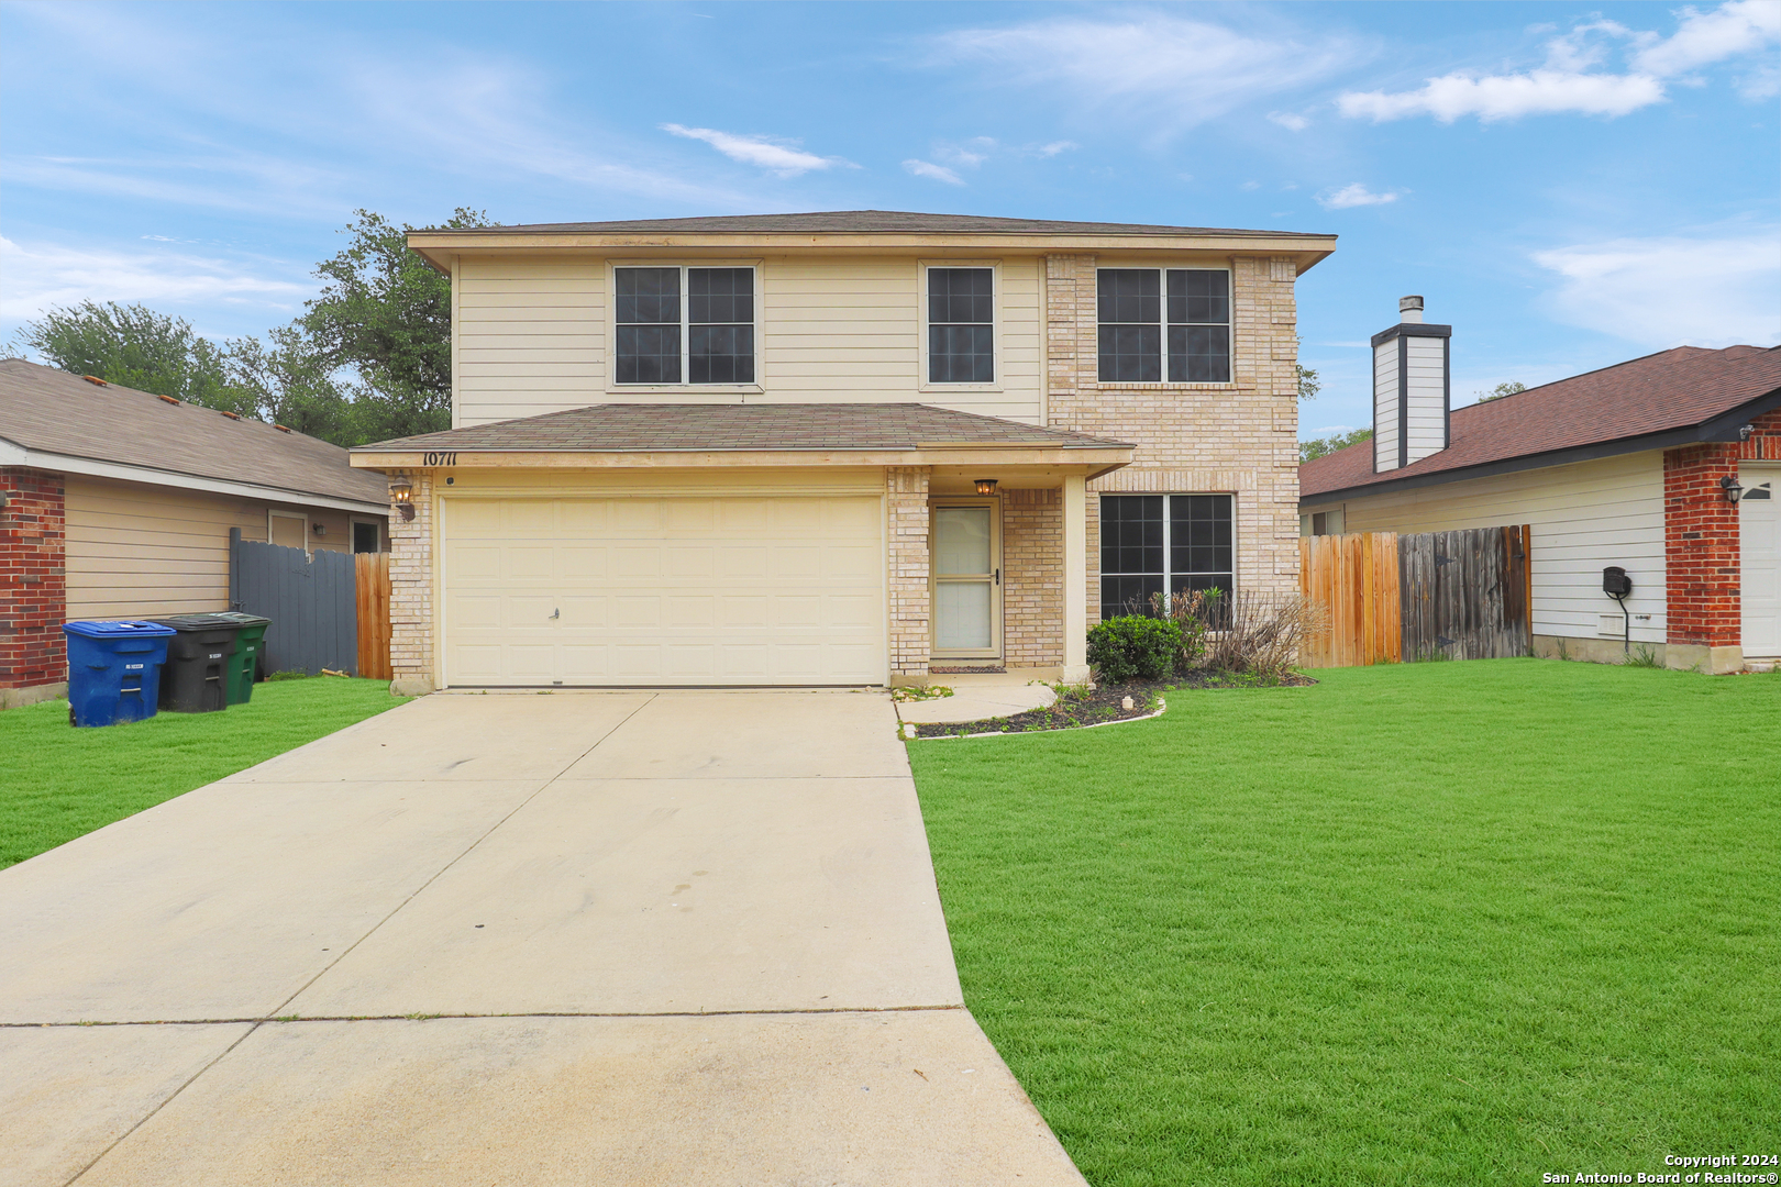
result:
M 1254 235 L 1265 238 L 1330 238 L 1305 231 L 1240 231 L 1218 226 L 1156 226 L 1151 222 L 1054 222 L 992 219 L 972 214 L 907 210 L 817 210 L 812 214 L 732 214 L 698 219 L 632 219 L 627 222 L 531 222 L 520 226 L 438 228 L 422 235 Z

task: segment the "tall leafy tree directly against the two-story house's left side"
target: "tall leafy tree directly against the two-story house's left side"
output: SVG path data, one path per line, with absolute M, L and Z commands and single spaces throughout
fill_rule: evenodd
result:
M 315 267 L 328 281 L 299 327 L 310 365 L 356 377 L 354 443 L 451 427 L 451 278 L 408 249 L 408 233 L 379 214 L 356 212 L 346 249 Z M 495 226 L 459 208 L 449 228 Z

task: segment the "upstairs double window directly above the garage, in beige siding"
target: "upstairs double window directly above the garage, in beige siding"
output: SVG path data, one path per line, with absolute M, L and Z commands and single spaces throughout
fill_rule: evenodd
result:
M 616 383 L 753 383 L 755 271 L 613 269 Z

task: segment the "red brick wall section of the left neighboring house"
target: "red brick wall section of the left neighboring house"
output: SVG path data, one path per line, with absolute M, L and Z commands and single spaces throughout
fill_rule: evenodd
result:
M 68 680 L 62 475 L 0 468 L 0 689 Z

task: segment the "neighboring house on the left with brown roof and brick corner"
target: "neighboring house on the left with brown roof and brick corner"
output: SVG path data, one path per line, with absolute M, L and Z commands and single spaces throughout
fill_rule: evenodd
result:
M 381 552 L 386 521 L 337 445 L 0 361 L 0 707 L 62 696 L 66 619 L 230 609 L 230 529 Z

